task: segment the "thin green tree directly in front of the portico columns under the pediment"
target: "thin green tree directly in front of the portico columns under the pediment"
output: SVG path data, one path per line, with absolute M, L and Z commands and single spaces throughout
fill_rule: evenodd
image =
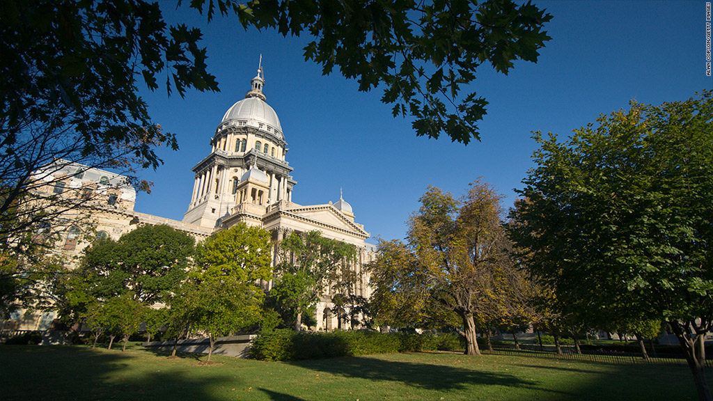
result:
M 295 308 L 294 330 L 301 330 L 302 315 L 314 308 L 330 284 L 337 285 L 340 292 L 353 290 L 354 282 L 349 282 L 349 277 L 356 260 L 354 245 L 324 238 L 321 232 L 312 230 L 302 234 L 292 232 L 279 243 L 278 252 L 275 269 L 285 278 L 277 281 L 275 290 L 283 302 L 289 300 Z M 284 288 L 279 288 L 281 285 Z

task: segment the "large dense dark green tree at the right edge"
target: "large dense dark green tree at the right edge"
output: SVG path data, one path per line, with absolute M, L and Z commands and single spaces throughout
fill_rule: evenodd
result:
M 561 300 L 665 320 L 701 400 L 713 324 L 713 96 L 602 115 L 559 141 L 535 133 L 537 166 L 513 232 Z

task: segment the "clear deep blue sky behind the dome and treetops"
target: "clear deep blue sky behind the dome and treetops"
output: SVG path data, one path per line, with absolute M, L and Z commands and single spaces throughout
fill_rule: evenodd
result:
M 260 54 L 267 103 L 279 116 L 298 181 L 292 200 L 335 202 L 343 188 L 356 221 L 387 240 L 404 238 L 405 221 L 429 185 L 459 196 L 480 176 L 510 207 L 513 189 L 533 166 L 530 131 L 565 136 L 601 113 L 627 108 L 631 99 L 658 105 L 713 88 L 705 73 L 705 1 L 533 3 L 553 15 L 545 26 L 552 40 L 537 64 L 516 62 L 508 76 L 490 65 L 478 69 L 476 91 L 490 104 L 479 124 L 481 142 L 463 146 L 416 137 L 408 119 L 393 118 L 391 106 L 379 101 L 379 89 L 361 93 L 338 72 L 322 76 L 302 56 L 307 37 L 246 32 L 220 16 L 205 24 L 187 6 L 175 10 L 174 1 L 161 1 L 168 21 L 202 29 L 220 93 L 167 98 L 163 90 L 144 92 L 155 122 L 178 136 L 180 151 L 161 150 L 163 166 L 140 172 L 154 187 L 139 194 L 135 210 L 183 218 L 193 191 L 191 168 L 210 153 L 225 111 L 245 98 Z

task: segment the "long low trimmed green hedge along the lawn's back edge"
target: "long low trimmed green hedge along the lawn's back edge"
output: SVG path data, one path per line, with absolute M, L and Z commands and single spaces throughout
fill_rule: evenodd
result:
M 453 333 L 379 333 L 368 330 L 261 332 L 250 355 L 257 360 L 305 360 L 394 352 L 463 350 L 461 336 Z

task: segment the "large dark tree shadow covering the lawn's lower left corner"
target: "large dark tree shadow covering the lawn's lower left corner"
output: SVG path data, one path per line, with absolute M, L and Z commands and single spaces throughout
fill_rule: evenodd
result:
M 225 400 L 217 387 L 240 380 L 155 362 L 141 350 L 0 346 L 0 399 L 10 400 Z M 169 362 L 170 364 L 170 362 Z M 183 365 L 183 363 L 181 363 Z

